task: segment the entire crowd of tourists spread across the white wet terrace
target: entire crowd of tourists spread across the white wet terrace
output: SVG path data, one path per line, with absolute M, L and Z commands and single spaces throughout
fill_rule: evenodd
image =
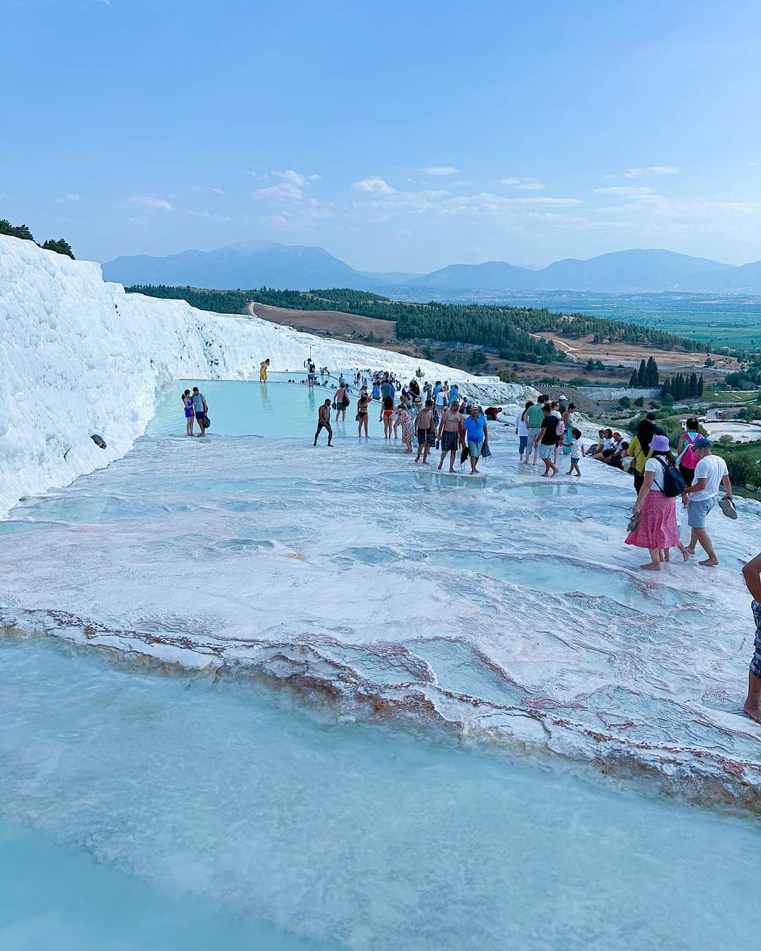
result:
M 269 359 L 263 360 L 260 379 L 266 382 Z M 320 380 L 312 359 L 304 361 L 307 385 L 328 386 L 330 373 L 320 368 Z M 289 380 L 296 382 L 296 380 Z M 417 442 L 415 462 L 428 465 L 431 451 L 440 452 L 439 471 L 448 461 L 448 472 L 455 473 L 458 459 L 470 460 L 470 473 L 478 474 L 478 460 L 491 456 L 488 422 L 501 416 L 500 407 L 482 408 L 475 400 L 468 400 L 459 392 L 457 383 L 436 380 L 420 385 L 417 378 L 402 383 L 394 374 L 370 370 L 354 373 L 348 382 L 341 373 L 332 398 L 325 398 L 318 410 L 317 432 L 314 445 L 324 429 L 327 445 L 333 447 L 332 414 L 335 422 L 344 422 L 346 411 L 356 397 L 358 437 L 368 438 L 368 421 L 374 405 L 380 407 L 379 421 L 383 424 L 383 439 L 400 438 L 405 455 L 412 455 Z M 182 394 L 185 409 L 186 434 L 194 436 L 197 425 L 200 437 L 205 437 L 209 425 L 208 405 L 197 386 Z M 565 398 L 551 399 L 546 395 L 526 401 L 522 410 L 507 425 L 518 437 L 520 465 L 544 466 L 540 476 L 552 478 L 559 473 L 558 459 L 568 462 L 568 476 L 581 476 L 582 458 L 591 458 L 603 465 L 621 470 L 634 483 L 634 505 L 625 543 L 647 549 L 650 561 L 641 567 L 646 571 L 660 571 L 670 561 L 675 548 L 684 561 L 696 553 L 700 545 L 706 557 L 699 564 L 712 568 L 719 564 L 706 530 L 706 520 L 715 507 L 730 518 L 737 517 L 732 499 L 732 483 L 727 464 L 712 454 L 712 444 L 700 432 L 698 420 L 689 417 L 684 432 L 678 437 L 675 454 L 666 434 L 658 428 L 654 413 L 649 413 L 638 424 L 634 437 L 628 439 L 614 429 L 597 432 L 596 441 L 584 445 L 576 418 L 576 406 Z M 532 459 L 533 456 L 533 459 Z M 722 495 L 723 492 L 723 495 Z M 690 540 L 683 544 L 679 537 L 677 498 L 687 510 Z M 761 723 L 761 553 L 743 569 L 749 592 L 753 597 L 752 614 L 756 626 L 754 654 L 748 677 L 748 694 L 743 711 Z

